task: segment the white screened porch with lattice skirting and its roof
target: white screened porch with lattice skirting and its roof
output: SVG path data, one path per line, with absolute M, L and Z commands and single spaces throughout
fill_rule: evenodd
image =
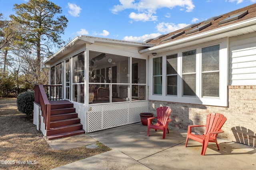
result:
M 152 46 L 76 37 L 44 63 L 48 96 L 71 102 L 86 133 L 139 122 L 148 111 L 148 55 L 138 51 Z

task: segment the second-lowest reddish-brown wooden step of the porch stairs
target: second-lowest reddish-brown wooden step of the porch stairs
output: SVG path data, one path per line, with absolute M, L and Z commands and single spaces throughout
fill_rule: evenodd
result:
M 47 136 L 50 136 L 50 135 L 56 135 L 56 134 L 60 134 L 60 133 L 68 133 L 68 132 L 72 132 L 72 131 L 78 131 L 78 130 L 81 130 L 82 128 L 83 128 L 83 125 L 81 123 L 60 126 L 60 127 L 53 127 L 53 128 L 50 128 L 50 130 L 48 130 L 46 132 L 46 134 L 47 134 Z

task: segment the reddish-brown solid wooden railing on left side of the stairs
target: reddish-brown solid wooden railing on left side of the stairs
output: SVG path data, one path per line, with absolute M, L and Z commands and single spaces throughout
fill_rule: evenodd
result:
M 47 98 L 44 86 L 42 84 L 35 85 L 35 102 L 41 106 L 47 136 L 47 131 L 50 130 L 51 104 Z

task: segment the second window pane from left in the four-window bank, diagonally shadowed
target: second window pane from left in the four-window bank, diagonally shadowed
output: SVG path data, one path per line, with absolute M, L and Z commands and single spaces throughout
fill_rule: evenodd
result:
M 167 95 L 177 95 L 177 57 L 178 54 L 166 56 Z

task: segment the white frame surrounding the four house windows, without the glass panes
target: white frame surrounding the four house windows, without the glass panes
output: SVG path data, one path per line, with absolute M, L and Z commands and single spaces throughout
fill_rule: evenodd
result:
M 220 45 L 219 51 L 219 71 L 220 71 L 220 96 L 219 98 L 202 98 L 202 48 L 213 45 Z M 196 49 L 196 97 L 182 96 L 182 52 Z M 178 53 L 178 80 L 177 96 L 166 95 L 166 56 Z M 158 100 L 165 102 L 179 102 L 189 104 L 200 104 L 210 106 L 228 106 L 228 38 L 211 41 L 192 47 L 157 53 L 156 56 L 150 56 L 149 66 L 153 67 L 153 58 L 162 57 L 162 95 L 154 95 L 153 92 L 153 68 L 149 69 L 149 100 Z

